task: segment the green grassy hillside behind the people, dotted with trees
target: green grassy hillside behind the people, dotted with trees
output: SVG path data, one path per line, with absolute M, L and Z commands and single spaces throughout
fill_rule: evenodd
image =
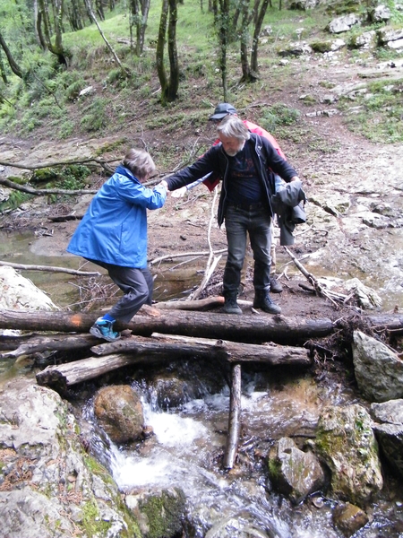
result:
M 120 8 L 122 9 L 122 7 Z M 364 6 L 360 6 L 364 10 Z M 115 65 L 99 30 L 91 25 L 84 30 L 66 33 L 64 46 L 71 52 L 68 69 L 55 70 L 54 58 L 42 57 L 35 77 L 29 84 L 13 79 L 7 88 L 7 101 L 0 108 L 0 128 L 5 134 L 21 137 L 66 139 L 71 137 L 101 137 L 108 134 L 132 133 L 142 137 L 152 132 L 167 137 L 163 161 L 170 163 L 178 150 L 178 143 L 186 134 L 200 134 L 198 152 L 210 143 L 202 140 L 206 120 L 215 104 L 223 100 L 220 74 L 217 65 L 217 39 L 213 30 L 211 13 L 201 13 L 198 0 L 185 0 L 179 5 L 177 25 L 178 56 L 181 66 L 179 98 L 161 107 L 159 103 L 159 79 L 155 65 L 155 43 L 159 29 L 159 2 L 152 2 L 146 49 L 136 57 L 129 46 L 129 21 L 119 9 L 107 13 L 101 28 L 121 62 L 132 74 L 124 77 Z M 340 36 L 330 36 L 326 25 L 336 10 L 324 6 L 311 11 L 279 11 L 270 8 L 264 26 L 270 32 L 261 39 L 259 60 L 261 79 L 253 84 L 240 84 L 241 66 L 239 44 L 234 43 L 228 51 L 228 100 L 242 111 L 248 108 L 248 117 L 261 123 L 280 138 L 293 142 L 304 137 L 301 109 L 309 104 L 298 100 L 298 93 L 310 85 L 306 70 L 306 57 L 291 58 L 287 65 L 279 65 L 279 50 L 290 41 L 307 43 L 327 42 Z M 379 25 L 378 25 L 379 26 Z M 376 25 L 350 30 L 341 37 L 348 42 L 358 33 L 375 28 Z M 167 56 L 167 54 L 166 54 Z M 311 62 L 321 61 L 322 53 L 314 53 Z M 357 51 L 345 48 L 340 53 L 341 62 L 355 65 L 359 62 L 396 57 L 386 49 Z M 398 55 L 399 56 L 399 55 Z M 332 69 L 328 64 L 329 71 Z M 322 83 L 325 86 L 326 76 Z M 364 113 L 356 114 L 350 121 L 352 129 L 369 137 L 390 142 L 401 142 L 403 131 L 402 91 L 403 80 L 394 82 L 393 90 L 385 91 L 384 83 L 374 82 L 372 97 L 357 95 L 356 105 L 364 105 Z M 84 96 L 80 91 L 92 87 Z M 256 106 L 255 105 L 260 105 Z M 346 100 L 339 100 L 337 107 L 348 108 Z M 389 113 L 389 114 L 388 114 Z M 351 119 L 351 118 L 350 118 Z M 400 125 L 399 125 L 400 124 Z M 320 143 L 320 141 L 318 141 Z M 156 148 L 159 151 L 159 148 Z M 186 151 L 184 144 L 181 151 Z M 174 159 L 174 161 L 177 161 Z

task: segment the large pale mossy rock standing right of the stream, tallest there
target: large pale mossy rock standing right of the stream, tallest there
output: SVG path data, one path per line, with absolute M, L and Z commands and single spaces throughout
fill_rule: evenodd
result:
M 378 445 L 361 405 L 327 407 L 318 422 L 315 450 L 330 468 L 337 498 L 360 506 L 382 490 Z

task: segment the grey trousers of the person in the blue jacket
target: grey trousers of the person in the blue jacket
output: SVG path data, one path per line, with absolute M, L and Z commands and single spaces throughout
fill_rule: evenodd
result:
M 142 305 L 151 304 L 154 280 L 149 269 L 133 269 L 97 260 L 90 261 L 107 269 L 110 278 L 124 292 L 124 296 L 108 311 L 109 316 L 128 323 Z

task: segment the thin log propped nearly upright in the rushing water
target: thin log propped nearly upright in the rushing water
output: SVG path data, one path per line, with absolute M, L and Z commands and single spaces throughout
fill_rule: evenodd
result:
M 231 367 L 231 386 L 229 397 L 228 435 L 223 466 L 232 469 L 238 451 L 239 432 L 241 430 L 241 365 Z

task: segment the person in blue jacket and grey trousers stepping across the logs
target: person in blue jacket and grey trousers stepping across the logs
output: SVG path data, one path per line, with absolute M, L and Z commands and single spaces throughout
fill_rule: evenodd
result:
M 131 149 L 115 174 L 99 189 L 73 234 L 67 251 L 100 265 L 124 296 L 90 328 L 90 334 L 115 342 L 116 321 L 128 323 L 143 304 L 151 304 L 153 278 L 147 267 L 147 209 L 159 209 L 167 189 L 141 183 L 155 164 L 150 154 Z

